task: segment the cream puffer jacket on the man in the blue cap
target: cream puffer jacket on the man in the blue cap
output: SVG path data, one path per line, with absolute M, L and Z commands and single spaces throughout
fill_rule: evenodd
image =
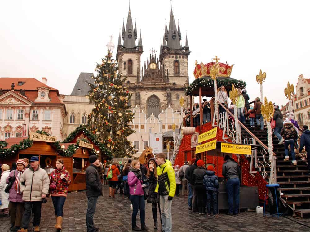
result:
M 36 171 L 32 167 L 27 168 L 20 177 L 20 191 L 23 193 L 23 201 L 41 201 L 42 193 L 47 194 L 50 188 L 50 180 L 47 172 L 38 167 Z

